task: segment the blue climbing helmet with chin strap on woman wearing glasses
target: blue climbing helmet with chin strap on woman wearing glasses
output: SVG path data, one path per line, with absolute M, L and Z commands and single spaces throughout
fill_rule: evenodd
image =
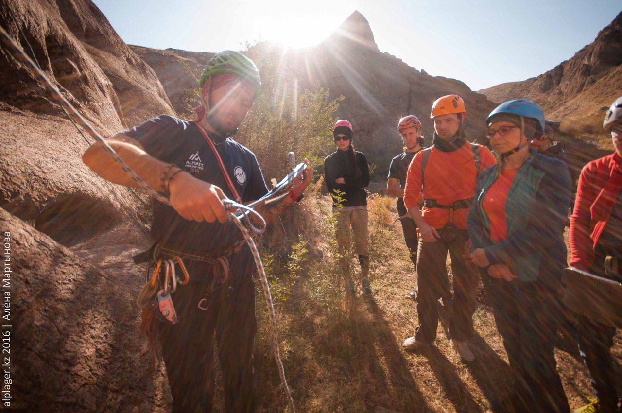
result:
M 511 155 L 514 152 L 520 151 L 523 147 L 529 145 L 529 142 L 531 141 L 531 139 L 533 139 L 533 137 L 542 136 L 542 134 L 544 134 L 544 111 L 542 111 L 542 108 L 540 108 L 540 106 L 530 100 L 516 99 L 499 104 L 499 106 L 494 108 L 493 111 L 488 115 L 488 118 L 486 118 L 486 125 L 490 126 L 491 123 L 494 123 L 496 121 L 495 119 L 508 120 L 506 116 L 503 115 L 510 115 L 511 117 L 518 117 L 518 119 L 520 119 L 519 126 L 521 126 L 521 133 L 527 137 L 527 141 L 519 144 L 519 146 L 515 147 L 511 151 L 505 152 L 504 154 L 499 154 L 502 158 Z M 527 136 L 527 133 L 525 131 L 526 119 L 532 119 L 532 121 L 529 121 L 529 123 L 533 124 L 533 126 L 535 127 L 534 136 Z

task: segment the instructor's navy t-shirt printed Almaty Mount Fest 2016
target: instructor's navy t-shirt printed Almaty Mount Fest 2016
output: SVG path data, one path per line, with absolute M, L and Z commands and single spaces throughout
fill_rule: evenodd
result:
M 220 187 L 228 198 L 234 200 L 218 160 L 194 123 L 162 115 L 123 133 L 136 139 L 149 155 Z M 230 137 L 216 145 L 216 150 L 244 203 L 257 200 L 268 192 L 253 152 Z M 213 256 L 243 239 L 238 227 L 229 221 L 224 224 L 188 221 L 169 205 L 157 201 L 154 202 L 151 235 L 167 248 Z

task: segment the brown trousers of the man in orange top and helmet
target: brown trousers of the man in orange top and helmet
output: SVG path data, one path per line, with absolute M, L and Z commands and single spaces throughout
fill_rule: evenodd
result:
M 439 233 L 442 233 L 440 230 Z M 475 312 L 475 289 L 479 281 L 474 267 L 466 266 L 463 258 L 466 230 L 458 230 L 453 239 L 439 239 L 434 243 L 419 240 L 417 254 L 417 317 L 419 327 L 415 339 L 433 343 L 439 325 L 438 300 L 447 285 L 447 252 L 452 259 L 453 305 L 449 317 L 449 333 L 453 340 L 465 341 L 473 335 L 473 313 Z

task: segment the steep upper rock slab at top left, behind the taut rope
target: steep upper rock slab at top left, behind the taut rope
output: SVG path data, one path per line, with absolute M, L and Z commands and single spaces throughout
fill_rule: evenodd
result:
M 173 113 L 151 67 L 89 0 L 2 2 L 0 24 L 22 49 L 34 52 L 47 77 L 103 134 L 153 113 Z M 19 60 L 7 49 L 0 53 L 0 101 L 33 113 L 65 116 Z

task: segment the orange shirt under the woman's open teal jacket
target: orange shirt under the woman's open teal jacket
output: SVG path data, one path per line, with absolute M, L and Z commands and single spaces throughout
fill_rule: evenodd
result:
M 482 202 L 482 207 L 490 223 L 490 238 L 495 243 L 508 239 L 508 225 L 505 214 L 505 204 L 508 200 L 509 188 L 512 186 L 516 172 L 520 168 L 502 168 L 501 175 L 493 182 Z

